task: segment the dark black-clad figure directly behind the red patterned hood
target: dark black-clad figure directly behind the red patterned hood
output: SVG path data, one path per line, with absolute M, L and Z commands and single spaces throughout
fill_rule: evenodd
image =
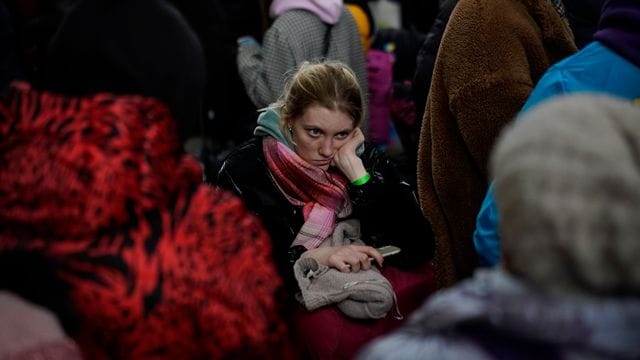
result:
M 47 51 L 42 88 L 68 95 L 106 91 L 165 103 L 179 138 L 202 135 L 202 45 L 164 0 L 80 0 Z

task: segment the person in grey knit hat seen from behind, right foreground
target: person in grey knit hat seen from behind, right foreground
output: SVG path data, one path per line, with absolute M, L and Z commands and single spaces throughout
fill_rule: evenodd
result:
M 359 360 L 640 358 L 640 107 L 551 99 L 492 155 L 505 261 L 432 296 Z

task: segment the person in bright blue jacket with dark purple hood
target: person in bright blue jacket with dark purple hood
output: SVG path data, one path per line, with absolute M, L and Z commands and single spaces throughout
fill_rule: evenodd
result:
M 551 67 L 540 79 L 522 111 L 554 96 L 603 93 L 640 99 L 640 3 L 607 0 L 595 40 Z M 499 212 L 489 187 L 476 219 L 473 243 L 481 265 L 500 261 Z

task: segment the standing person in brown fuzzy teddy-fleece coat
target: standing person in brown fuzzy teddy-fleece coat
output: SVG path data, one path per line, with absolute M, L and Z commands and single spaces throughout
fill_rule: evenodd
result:
M 460 0 L 440 43 L 418 145 L 440 287 L 471 275 L 489 151 L 553 63 L 577 49 L 559 0 Z

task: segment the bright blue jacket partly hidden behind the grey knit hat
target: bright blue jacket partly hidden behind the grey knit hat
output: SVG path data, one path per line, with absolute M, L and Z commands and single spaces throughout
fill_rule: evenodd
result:
M 594 41 L 549 68 L 520 114 L 554 96 L 579 92 L 640 99 L 640 67 Z M 480 207 L 473 234 L 473 243 L 483 266 L 493 266 L 500 260 L 498 223 L 492 183 Z

